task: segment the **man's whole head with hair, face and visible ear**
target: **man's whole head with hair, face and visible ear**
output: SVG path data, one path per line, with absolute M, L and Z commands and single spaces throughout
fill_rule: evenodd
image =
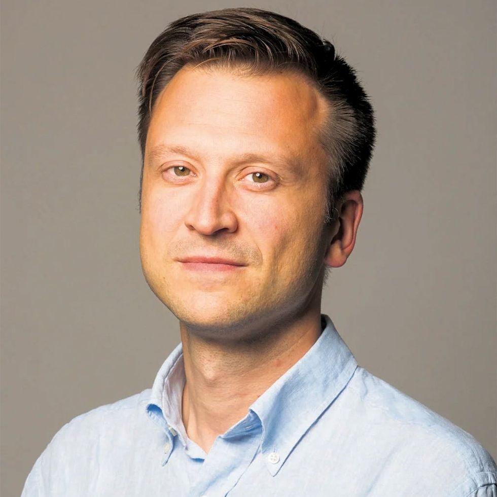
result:
M 242 8 L 173 22 L 138 76 L 152 290 L 206 333 L 304 312 L 362 212 L 374 127 L 352 69 L 295 21 Z

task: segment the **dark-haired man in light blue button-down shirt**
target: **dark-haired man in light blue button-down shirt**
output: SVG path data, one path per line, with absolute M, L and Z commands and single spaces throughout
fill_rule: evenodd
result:
M 181 344 L 151 390 L 67 423 L 23 495 L 496 495 L 483 447 L 321 314 L 375 136 L 333 46 L 225 9 L 173 22 L 138 76 L 141 261 Z

